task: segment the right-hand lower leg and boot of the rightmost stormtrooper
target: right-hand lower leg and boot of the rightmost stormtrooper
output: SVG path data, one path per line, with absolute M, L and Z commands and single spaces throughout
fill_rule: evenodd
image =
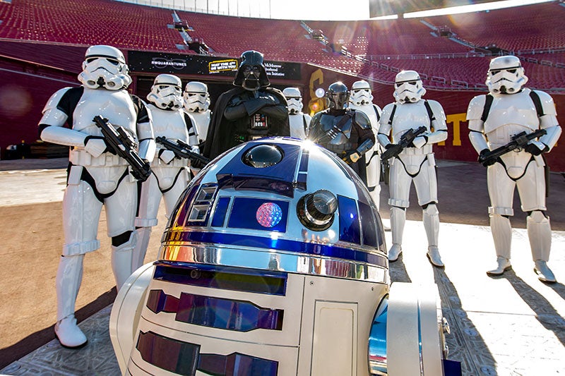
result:
M 547 266 L 549 251 L 552 245 L 552 229 L 549 218 L 540 210 L 531 212 L 526 218 L 532 258 L 535 262 L 534 272 L 540 281 L 554 283 L 555 276 Z

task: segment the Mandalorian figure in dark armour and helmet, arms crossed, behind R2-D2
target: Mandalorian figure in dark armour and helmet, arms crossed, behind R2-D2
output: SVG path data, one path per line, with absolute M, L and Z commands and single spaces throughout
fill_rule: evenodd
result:
M 340 81 L 328 87 L 329 108 L 314 115 L 308 138 L 338 155 L 364 180 L 362 157 L 375 144 L 375 135 L 367 115 L 345 107 L 348 97 L 349 90 Z

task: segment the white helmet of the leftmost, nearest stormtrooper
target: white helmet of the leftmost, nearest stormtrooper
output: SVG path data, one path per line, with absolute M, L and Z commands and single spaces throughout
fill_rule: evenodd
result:
M 97 45 L 86 50 L 83 71 L 78 80 L 89 89 L 121 90 L 131 83 L 128 73 L 126 59 L 119 49 Z

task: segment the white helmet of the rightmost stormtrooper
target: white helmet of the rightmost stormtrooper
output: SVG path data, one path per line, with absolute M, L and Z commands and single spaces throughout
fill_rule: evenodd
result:
M 492 95 L 519 92 L 527 82 L 528 77 L 516 56 L 499 56 L 490 61 L 486 84 Z

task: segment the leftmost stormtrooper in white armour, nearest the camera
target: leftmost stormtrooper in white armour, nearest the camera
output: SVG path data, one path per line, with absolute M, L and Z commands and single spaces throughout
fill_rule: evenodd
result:
M 125 159 L 107 151 L 93 118 L 108 119 L 124 128 L 138 143 L 138 154 L 153 159 L 155 140 L 150 114 L 141 99 L 127 92 L 131 83 L 124 55 L 105 45 L 86 50 L 79 87 L 65 87 L 52 95 L 43 109 L 40 137 L 71 147 L 63 199 L 64 246 L 57 270 L 57 323 L 61 345 L 76 348 L 86 336 L 76 325 L 76 296 L 86 253 L 100 248 L 98 221 L 105 206 L 107 234 L 112 238 L 112 271 L 117 289 L 132 272 L 136 245 L 134 219 L 137 182 Z M 70 128 L 65 128 L 68 123 Z

